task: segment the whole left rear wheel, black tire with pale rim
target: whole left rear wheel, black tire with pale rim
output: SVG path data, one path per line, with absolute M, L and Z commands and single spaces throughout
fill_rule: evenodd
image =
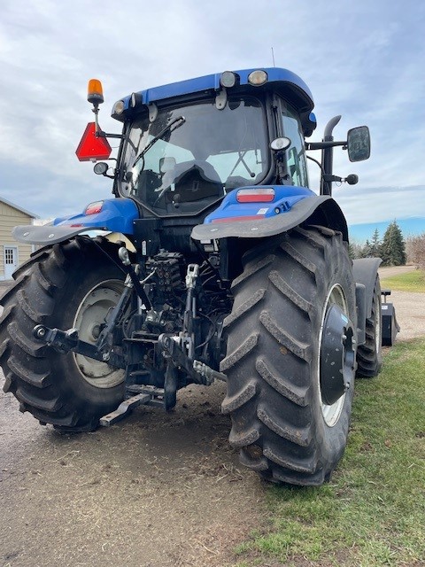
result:
M 4 392 L 21 411 L 64 431 L 92 431 L 124 397 L 124 372 L 81 354 L 58 353 L 33 329 L 78 328 L 94 344 L 104 317 L 123 290 L 124 275 L 107 254 L 78 237 L 35 255 L 15 274 L 1 300 L 0 364 Z

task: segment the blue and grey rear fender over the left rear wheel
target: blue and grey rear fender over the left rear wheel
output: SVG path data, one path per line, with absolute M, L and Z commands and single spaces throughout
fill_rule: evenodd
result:
M 89 230 L 106 230 L 124 235 L 133 234 L 133 221 L 139 218 L 135 202 L 130 198 L 112 198 L 99 201 L 99 211 L 86 214 L 87 206 L 81 214 L 60 217 L 44 226 L 19 226 L 12 230 L 19 242 L 36 245 L 50 245 Z M 96 210 L 96 209 L 95 209 Z

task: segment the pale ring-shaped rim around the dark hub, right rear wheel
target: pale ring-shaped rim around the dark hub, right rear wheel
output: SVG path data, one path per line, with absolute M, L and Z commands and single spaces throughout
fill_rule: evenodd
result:
M 319 336 L 319 345 L 321 346 L 319 351 L 319 360 L 318 360 L 318 383 L 319 383 L 319 392 L 320 392 L 320 400 L 321 400 L 321 414 L 325 423 L 328 427 L 333 427 L 339 420 L 341 416 L 341 412 L 344 407 L 344 400 L 345 400 L 345 392 L 334 402 L 334 403 L 326 403 L 323 400 L 323 393 L 322 393 L 322 377 L 321 377 L 321 354 L 322 354 L 322 341 L 324 338 L 324 330 L 325 330 L 325 321 L 327 320 L 328 311 L 331 307 L 336 306 L 339 307 L 342 314 L 344 314 L 347 322 L 350 320 L 350 314 L 348 312 L 347 301 L 345 299 L 344 291 L 339 284 L 334 285 L 328 293 L 328 298 L 326 299 L 325 306 L 323 308 L 323 315 L 321 320 L 321 331 Z M 343 354 L 342 358 L 344 360 L 343 364 L 345 365 L 347 362 L 347 356 L 350 355 L 352 359 L 354 359 L 352 353 L 345 352 L 345 347 L 343 347 Z

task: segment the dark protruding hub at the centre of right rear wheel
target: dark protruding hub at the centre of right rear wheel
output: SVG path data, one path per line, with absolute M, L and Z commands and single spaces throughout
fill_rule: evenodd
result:
M 328 309 L 321 338 L 321 399 L 331 406 L 350 387 L 355 352 L 352 323 L 341 307 Z

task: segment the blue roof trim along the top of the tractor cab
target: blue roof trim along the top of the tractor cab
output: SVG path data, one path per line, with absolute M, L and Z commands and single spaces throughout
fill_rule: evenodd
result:
M 243 69 L 240 71 L 234 71 L 239 77 L 241 85 L 249 85 L 248 75 L 252 71 L 257 69 Z M 307 87 L 305 82 L 298 77 L 297 74 L 292 73 L 288 69 L 282 69 L 278 67 L 263 68 L 262 70 L 267 72 L 268 81 L 267 85 L 270 83 L 286 83 L 292 89 L 297 89 L 298 93 L 305 99 L 305 105 L 313 110 L 313 95 L 310 89 Z M 151 103 L 157 102 L 159 100 L 165 100 L 166 98 L 182 97 L 184 95 L 190 95 L 192 93 L 203 92 L 205 90 L 219 90 L 220 89 L 220 73 L 208 74 L 203 77 L 197 77 L 196 79 L 189 79 L 187 81 L 173 82 L 161 87 L 154 87 L 153 89 L 146 89 L 136 92 L 135 94 L 141 101 L 143 105 L 149 105 Z M 262 87 L 254 87 L 254 89 L 261 89 Z M 131 96 L 122 98 L 124 102 L 125 110 L 129 108 Z M 120 118 L 115 116 L 115 118 Z

